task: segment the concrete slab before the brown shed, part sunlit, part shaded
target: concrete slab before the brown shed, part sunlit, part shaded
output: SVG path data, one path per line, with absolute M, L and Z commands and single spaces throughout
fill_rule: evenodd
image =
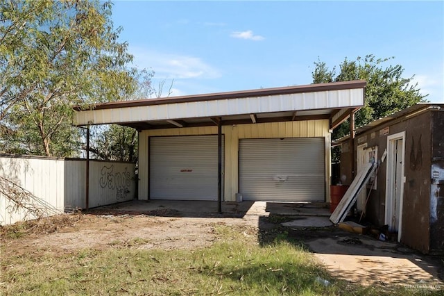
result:
M 443 289 L 438 265 L 412 250 L 398 250 L 395 242 L 366 236 L 334 236 L 306 242 L 325 268 L 335 277 L 364 285 L 398 284 Z

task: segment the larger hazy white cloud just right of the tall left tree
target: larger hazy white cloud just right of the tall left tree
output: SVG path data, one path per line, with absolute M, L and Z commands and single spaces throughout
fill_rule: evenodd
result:
M 141 47 L 130 47 L 134 56 L 133 65 L 151 68 L 157 79 L 213 79 L 221 76 L 217 69 L 200 58 L 178 54 L 164 54 Z

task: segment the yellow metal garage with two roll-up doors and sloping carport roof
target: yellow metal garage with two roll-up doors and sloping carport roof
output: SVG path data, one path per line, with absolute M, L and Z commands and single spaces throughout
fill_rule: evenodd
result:
M 76 126 L 139 131 L 139 199 L 316 202 L 330 197 L 330 132 L 364 106 L 365 81 L 74 108 Z M 353 134 L 353 133 L 352 133 Z M 350 138 L 353 141 L 354 137 Z

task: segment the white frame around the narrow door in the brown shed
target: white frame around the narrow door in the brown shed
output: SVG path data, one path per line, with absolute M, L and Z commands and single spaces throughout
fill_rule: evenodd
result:
M 400 186 L 400 215 L 398 217 L 398 242 L 401 240 L 402 233 L 402 204 L 404 199 L 404 166 L 405 166 L 405 131 L 400 133 L 395 133 L 393 135 L 388 135 L 387 137 L 387 159 L 386 159 L 386 200 L 385 200 L 385 222 L 384 224 L 388 224 L 388 227 L 392 227 L 391 225 L 391 217 L 393 216 L 393 187 L 395 186 L 395 179 L 393 176 L 394 170 L 394 161 L 395 155 L 393 154 L 395 141 L 402 140 L 402 165 L 401 165 L 401 186 Z

